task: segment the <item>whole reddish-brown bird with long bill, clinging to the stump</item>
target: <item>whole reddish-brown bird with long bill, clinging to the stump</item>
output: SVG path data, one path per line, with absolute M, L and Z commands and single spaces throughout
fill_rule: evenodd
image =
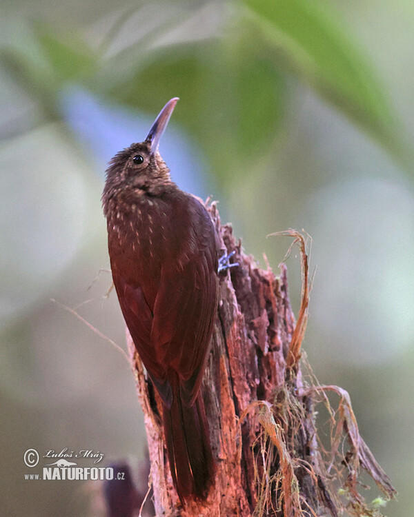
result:
M 213 455 L 200 385 L 217 310 L 217 235 L 204 205 L 179 190 L 158 152 L 177 97 L 146 140 L 114 156 L 103 212 L 126 325 L 163 404 L 166 449 L 181 501 L 206 497 Z

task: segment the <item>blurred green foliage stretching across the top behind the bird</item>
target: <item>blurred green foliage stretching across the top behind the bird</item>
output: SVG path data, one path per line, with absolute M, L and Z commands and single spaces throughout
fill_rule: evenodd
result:
M 157 1 L 119 9 L 100 41 L 81 29 L 12 25 L 3 66 L 46 119 L 59 119 L 61 92 L 73 84 L 151 113 L 179 95 L 175 120 L 221 184 L 250 172 L 246 150 L 271 150 L 295 78 L 384 148 L 401 145 L 373 67 L 324 2 Z

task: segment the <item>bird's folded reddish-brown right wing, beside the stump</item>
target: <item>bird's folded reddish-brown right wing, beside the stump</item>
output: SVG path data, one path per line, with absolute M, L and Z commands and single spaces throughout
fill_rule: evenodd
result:
M 200 222 L 197 252 L 180 269 L 161 267 L 150 334 L 157 357 L 175 369 L 191 403 L 204 373 L 217 307 L 215 230 L 207 212 Z

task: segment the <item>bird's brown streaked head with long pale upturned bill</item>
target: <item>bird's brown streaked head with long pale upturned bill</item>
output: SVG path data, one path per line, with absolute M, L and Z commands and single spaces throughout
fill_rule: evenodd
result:
M 175 97 L 166 103 L 144 142 L 132 143 L 112 158 L 106 170 L 103 201 L 125 190 L 135 195 L 157 195 L 165 185 L 172 184 L 170 170 L 161 158 L 158 146 L 177 101 L 178 97 Z

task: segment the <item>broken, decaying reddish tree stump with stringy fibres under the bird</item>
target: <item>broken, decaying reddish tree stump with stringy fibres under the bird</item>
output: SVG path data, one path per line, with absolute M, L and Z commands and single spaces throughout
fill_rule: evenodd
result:
M 223 248 L 236 250 L 233 267 L 221 278 L 219 307 L 208 368 L 201 387 L 216 460 L 215 483 L 206 501 L 182 507 L 172 485 L 161 427 L 161 403 L 146 378 L 128 336 L 137 392 L 144 411 L 151 462 L 150 480 L 157 516 L 380 516 L 359 494 L 359 469 L 383 491 L 395 495 L 390 480 L 359 436 L 348 394 L 317 385 L 302 373 L 302 338 L 308 305 L 308 265 L 299 234 L 304 289 L 295 321 L 287 271 L 261 270 L 221 226 L 215 203 L 209 207 Z M 337 414 L 326 393 L 340 397 Z M 316 409 L 331 411 L 331 449 L 319 443 Z M 348 450 L 344 447 L 348 440 Z M 345 440 L 346 441 L 346 440 Z

